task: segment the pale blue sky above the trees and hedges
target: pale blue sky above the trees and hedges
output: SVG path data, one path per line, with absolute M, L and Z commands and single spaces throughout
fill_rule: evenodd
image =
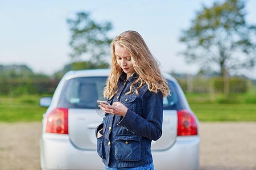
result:
M 185 63 L 178 53 L 184 49 L 179 42 L 182 29 L 202 5 L 213 0 L 102 0 L 102 1 L 0 1 L 0 64 L 26 64 L 36 73 L 52 74 L 71 62 L 68 56 L 70 32 L 66 22 L 76 12 L 90 12 L 96 22 L 109 21 L 115 37 L 126 30 L 141 33 L 162 70 L 195 74 L 199 65 Z M 220 0 L 220 2 L 222 2 Z M 256 23 L 256 1 L 246 1 L 246 20 Z M 256 79 L 256 69 L 241 70 Z

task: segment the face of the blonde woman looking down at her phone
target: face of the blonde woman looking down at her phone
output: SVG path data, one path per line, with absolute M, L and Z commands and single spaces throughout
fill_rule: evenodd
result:
M 135 73 L 133 63 L 131 63 L 131 56 L 123 46 L 115 45 L 115 57 L 118 65 L 126 73 L 127 79 Z

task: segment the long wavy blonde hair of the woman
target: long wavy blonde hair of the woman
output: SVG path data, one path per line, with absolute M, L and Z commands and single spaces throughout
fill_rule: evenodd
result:
M 142 36 L 136 31 L 125 31 L 115 37 L 110 45 L 112 64 L 110 67 L 110 75 L 104 90 L 104 97 L 106 99 L 111 99 L 118 92 L 117 82 L 123 71 L 118 65 L 115 56 L 115 45 L 117 44 L 123 46 L 123 48 L 130 54 L 134 70 L 138 74 L 138 79 L 131 84 L 130 91 L 126 94 L 132 92 L 134 84 L 140 83 L 139 87 L 135 90 L 136 94 L 139 95 L 138 89 L 146 83 L 148 90 L 151 92 L 157 93 L 159 90 L 162 92 L 163 97 L 170 95 L 168 83 L 160 72 L 159 64 L 152 56 Z

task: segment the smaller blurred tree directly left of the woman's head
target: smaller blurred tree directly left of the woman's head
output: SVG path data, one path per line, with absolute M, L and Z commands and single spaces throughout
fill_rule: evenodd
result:
M 112 39 L 107 33 L 112 29 L 110 22 L 97 23 L 89 18 L 89 13 L 79 12 L 75 19 L 67 19 L 71 31 L 72 48 L 70 56 L 77 62 L 82 55 L 89 57 L 90 63 L 95 67 L 106 63 L 104 57 L 109 54 Z

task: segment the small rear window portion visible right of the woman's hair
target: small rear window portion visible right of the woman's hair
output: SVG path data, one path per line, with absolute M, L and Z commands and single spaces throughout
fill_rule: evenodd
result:
M 163 108 L 167 110 L 180 110 L 184 109 L 184 101 L 180 96 L 180 92 L 174 82 L 167 80 L 170 89 L 170 96 L 164 97 Z

